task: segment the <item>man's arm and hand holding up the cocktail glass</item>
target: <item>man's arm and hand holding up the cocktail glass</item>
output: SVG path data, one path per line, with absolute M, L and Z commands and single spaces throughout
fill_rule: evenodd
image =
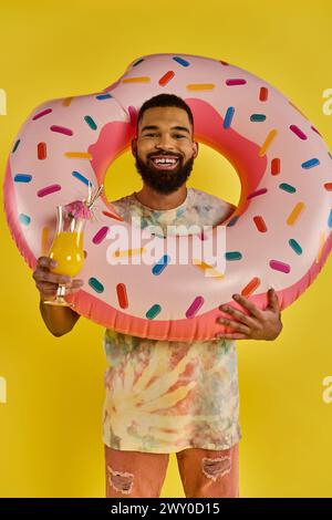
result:
M 72 280 L 70 277 L 54 274 L 50 271 L 54 266 L 54 261 L 48 257 L 38 259 L 37 268 L 33 271 L 35 287 L 40 292 L 40 313 L 49 329 L 56 337 L 70 332 L 80 318 L 70 306 L 48 305 L 43 300 L 54 300 L 59 283 L 65 283 L 68 292 L 75 292 L 82 285 L 82 280 Z

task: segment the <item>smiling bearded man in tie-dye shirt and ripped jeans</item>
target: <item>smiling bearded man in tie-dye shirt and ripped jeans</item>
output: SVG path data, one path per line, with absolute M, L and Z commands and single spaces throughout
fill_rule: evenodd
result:
M 142 228 L 157 225 L 215 225 L 234 206 L 186 187 L 198 154 L 188 105 L 172 94 L 145 102 L 132 142 L 143 187 L 114 201 Z M 58 283 L 70 291 L 81 280 L 50 272 L 40 258 L 33 273 L 41 294 L 40 310 L 56 336 L 72 330 L 80 318 L 70 308 L 48 306 Z M 106 330 L 104 346 L 110 363 L 105 373 L 103 418 L 107 497 L 158 497 L 168 457 L 176 453 L 186 497 L 238 497 L 239 396 L 236 339 L 274 340 L 281 332 L 276 292 L 269 291 L 264 311 L 241 295 L 234 299 L 249 315 L 227 305 L 218 321 L 231 329 L 207 342 L 168 342 L 134 337 Z

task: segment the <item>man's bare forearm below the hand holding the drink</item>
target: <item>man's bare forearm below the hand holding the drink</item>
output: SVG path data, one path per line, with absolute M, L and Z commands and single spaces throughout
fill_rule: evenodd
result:
M 40 313 L 54 336 L 62 336 L 70 332 L 80 318 L 70 306 L 48 305 L 40 300 Z

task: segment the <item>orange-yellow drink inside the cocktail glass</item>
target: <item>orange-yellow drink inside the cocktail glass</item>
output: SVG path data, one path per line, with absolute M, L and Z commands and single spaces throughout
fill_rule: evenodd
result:
M 56 267 L 51 269 L 55 274 L 79 274 L 84 262 L 83 232 L 60 231 L 54 238 L 49 257 L 56 261 Z

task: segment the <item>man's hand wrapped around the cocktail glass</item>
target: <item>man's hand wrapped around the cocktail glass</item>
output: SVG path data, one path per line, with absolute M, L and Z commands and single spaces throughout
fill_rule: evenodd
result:
M 59 283 L 65 285 L 66 292 L 76 292 L 83 285 L 83 280 L 73 280 L 64 274 L 55 274 L 51 272 L 52 268 L 56 267 L 56 262 L 49 257 L 40 257 L 37 261 L 35 270 L 32 278 L 35 281 L 35 287 L 40 292 L 41 300 L 54 300 Z

